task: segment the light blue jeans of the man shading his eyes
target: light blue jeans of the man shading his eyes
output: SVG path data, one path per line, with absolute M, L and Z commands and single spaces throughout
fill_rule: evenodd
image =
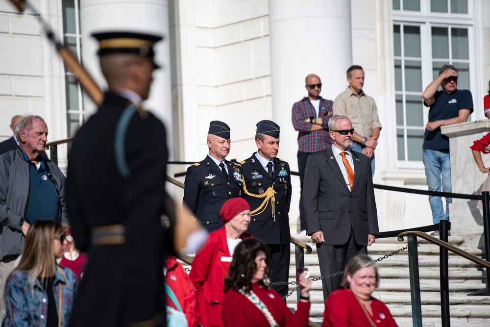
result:
M 449 162 L 449 152 L 422 149 L 425 176 L 427 177 L 427 186 L 429 191 L 451 192 L 451 166 Z M 442 183 L 442 185 L 441 185 Z M 440 220 L 449 220 L 449 203 L 452 198 L 446 198 L 446 213 L 441 197 L 429 196 L 430 208 L 432 210 L 432 221 L 439 224 Z

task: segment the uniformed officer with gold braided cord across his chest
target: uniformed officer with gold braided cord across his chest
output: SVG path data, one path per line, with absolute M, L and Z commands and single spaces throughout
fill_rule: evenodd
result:
M 288 281 L 291 232 L 291 173 L 289 164 L 277 158 L 279 126 L 264 120 L 257 123 L 257 152 L 242 164 L 245 200 L 250 204 L 251 221 L 247 232 L 267 244 L 270 252 L 271 282 Z M 271 286 L 279 295 L 288 285 Z

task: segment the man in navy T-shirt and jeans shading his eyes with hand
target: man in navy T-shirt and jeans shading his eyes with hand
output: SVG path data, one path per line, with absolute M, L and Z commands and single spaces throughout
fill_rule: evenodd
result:
M 442 90 L 438 91 L 441 85 Z M 469 90 L 458 90 L 458 70 L 453 65 L 442 65 L 439 76 L 427 86 L 422 98 L 430 107 L 429 122 L 425 126 L 423 160 L 429 191 L 451 192 L 451 169 L 449 165 L 449 138 L 441 134 L 441 126 L 464 123 L 473 112 L 473 98 Z M 449 203 L 446 211 L 441 197 L 429 196 L 434 224 L 449 220 Z M 439 232 L 434 232 L 438 235 Z

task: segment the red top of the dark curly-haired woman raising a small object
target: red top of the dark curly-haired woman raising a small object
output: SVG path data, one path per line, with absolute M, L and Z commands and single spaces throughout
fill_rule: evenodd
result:
M 274 290 L 267 290 L 252 284 L 252 291 L 267 306 L 279 327 L 307 327 L 310 302 L 298 302 L 298 309 L 293 314 Z M 236 291 L 228 291 L 223 298 L 221 318 L 224 327 L 270 327 L 264 313 L 248 300 L 245 295 Z

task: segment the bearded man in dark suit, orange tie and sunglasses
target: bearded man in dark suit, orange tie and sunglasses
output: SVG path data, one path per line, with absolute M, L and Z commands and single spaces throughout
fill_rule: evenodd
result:
M 311 154 L 306 163 L 303 206 L 306 232 L 317 244 L 321 276 L 341 272 L 378 234 L 371 163 L 351 151 L 354 129 L 345 116 L 328 122 L 333 146 Z M 342 276 L 323 278 L 323 299 L 340 289 Z

